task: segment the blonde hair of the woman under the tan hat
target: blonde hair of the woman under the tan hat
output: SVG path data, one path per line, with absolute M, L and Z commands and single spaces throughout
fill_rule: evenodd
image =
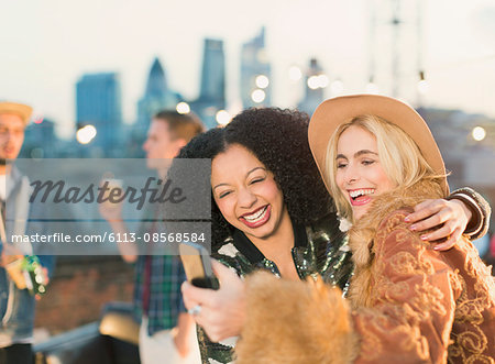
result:
M 422 178 L 440 178 L 421 155 L 415 141 L 399 126 L 376 115 L 359 115 L 341 124 L 327 145 L 324 177 L 336 201 L 339 216 L 352 221 L 349 199 L 336 183 L 337 144 L 340 135 L 350 126 L 359 126 L 376 139 L 380 163 L 388 179 L 396 187 L 409 187 Z

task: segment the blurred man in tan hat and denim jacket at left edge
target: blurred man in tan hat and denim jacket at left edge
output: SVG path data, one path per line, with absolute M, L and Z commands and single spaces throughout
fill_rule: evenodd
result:
M 34 209 L 40 206 L 29 203 L 30 183 L 25 176 L 8 163 L 15 159 L 24 142 L 24 130 L 29 123 L 32 109 L 29 106 L 14 102 L 0 102 L 0 227 L 7 232 L 0 242 L 0 363 L 29 364 L 33 362 L 33 324 L 35 297 L 25 287 L 21 268 L 9 266 L 14 261 L 41 253 L 37 246 L 23 244 L 25 251 L 19 251 L 11 245 L 9 235 L 43 234 L 40 222 L 29 221 Z M 7 183 L 7 179 L 9 181 Z M 6 207 L 9 206 L 9 214 Z M 40 216 L 37 213 L 37 216 Z M 28 217 L 28 219 L 26 219 Z M 8 220 L 7 220 L 8 219 Z M 28 220 L 28 221 L 26 221 Z M 7 240 L 7 241 L 6 241 Z M 40 263 L 44 271 L 45 284 L 52 273 L 54 258 L 51 255 L 40 255 Z M 14 272 L 12 272 L 14 271 Z M 16 272 L 16 273 L 15 273 Z M 14 277 L 21 275 L 21 278 Z M 22 288 L 23 287 L 23 288 Z

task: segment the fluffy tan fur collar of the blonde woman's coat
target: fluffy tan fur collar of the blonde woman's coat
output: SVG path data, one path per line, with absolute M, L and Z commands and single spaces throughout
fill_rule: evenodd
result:
M 411 209 L 431 198 L 443 198 L 441 186 L 431 179 L 421 179 L 408 188 L 396 188 L 378 196 L 370 211 L 349 231 L 349 246 L 356 268 L 369 266 L 372 260 L 373 239 L 382 220 L 398 209 Z

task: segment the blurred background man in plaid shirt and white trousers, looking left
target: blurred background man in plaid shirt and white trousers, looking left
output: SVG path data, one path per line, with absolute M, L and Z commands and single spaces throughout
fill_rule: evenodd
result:
M 143 144 L 148 168 L 156 169 L 162 179 L 166 176 L 165 159 L 174 158 L 193 136 L 204 131 L 200 120 L 189 113 L 158 112 L 152 120 Z M 122 206 L 100 205 L 102 217 L 114 233 L 128 233 L 122 220 Z M 151 211 L 152 219 L 157 211 Z M 143 223 L 141 231 L 157 232 L 158 223 Z M 138 246 L 119 245 L 122 257 L 135 263 L 134 308 L 141 317 L 140 356 L 144 364 L 199 363 L 195 324 L 185 311 L 180 284 L 186 279 L 178 256 L 139 255 Z

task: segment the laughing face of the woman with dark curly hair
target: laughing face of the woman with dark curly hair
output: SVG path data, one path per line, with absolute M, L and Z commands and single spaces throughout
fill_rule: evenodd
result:
M 290 221 L 273 174 L 245 147 L 233 144 L 211 162 L 215 201 L 226 220 L 253 242 Z

